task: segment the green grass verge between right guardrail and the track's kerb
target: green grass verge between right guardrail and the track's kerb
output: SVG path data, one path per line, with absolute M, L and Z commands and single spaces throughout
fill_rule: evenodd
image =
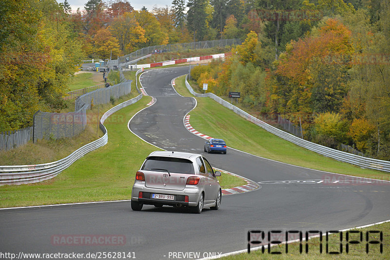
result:
M 184 96 L 191 96 L 185 87 L 184 80 L 185 76 L 176 79 L 176 90 Z M 292 165 L 389 180 L 389 173 L 362 169 L 296 146 L 245 120 L 211 98 L 196 99 L 197 106 L 190 113 L 191 125 L 201 133 L 225 139 L 229 147 Z

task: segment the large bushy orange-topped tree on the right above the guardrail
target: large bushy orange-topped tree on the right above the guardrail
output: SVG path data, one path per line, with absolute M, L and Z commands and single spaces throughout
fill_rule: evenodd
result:
M 276 86 L 271 98 L 278 111 L 309 127 L 312 113 L 337 111 L 348 93 L 349 61 L 354 52 L 351 31 L 340 21 L 327 19 L 318 34 L 291 42 L 276 63 Z M 346 62 L 339 62 L 344 57 Z M 297 115 L 299 114 L 299 116 Z M 294 115 L 295 114 L 295 115 Z

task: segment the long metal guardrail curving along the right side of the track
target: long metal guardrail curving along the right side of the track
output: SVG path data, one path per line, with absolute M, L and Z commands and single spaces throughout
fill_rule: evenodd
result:
M 329 147 L 314 144 L 312 142 L 309 142 L 309 141 L 306 141 L 306 140 L 301 139 L 299 137 L 296 137 L 290 133 L 287 133 L 283 130 L 277 129 L 277 128 L 261 121 L 260 119 L 248 114 L 247 112 L 245 112 L 245 111 L 243 111 L 235 106 L 233 106 L 229 102 L 223 100 L 222 98 L 220 98 L 219 96 L 217 96 L 213 93 L 205 93 L 205 94 L 196 93 L 192 89 L 191 85 L 188 83 L 187 76 L 186 76 L 185 84 L 186 84 L 187 89 L 193 95 L 195 95 L 197 97 L 210 97 L 210 98 L 214 99 L 216 102 L 218 102 L 219 104 L 221 104 L 222 106 L 224 106 L 230 110 L 233 110 L 236 114 L 242 116 L 243 118 L 247 119 L 248 121 L 253 122 L 254 124 L 258 125 L 259 127 L 263 128 L 263 129 L 265 129 L 265 130 L 267 130 L 267 131 L 269 131 L 269 132 L 271 132 L 271 133 L 273 133 L 273 134 L 275 134 L 275 135 L 277 135 L 277 136 L 279 136 L 287 141 L 290 141 L 297 146 L 309 149 L 309 150 L 314 151 L 316 153 L 333 158 L 337 161 L 350 163 L 353 165 L 357 165 L 359 167 L 390 172 L 390 162 L 389 161 L 383 161 L 383 160 L 362 157 L 362 156 L 351 154 L 348 152 L 339 151 L 336 149 L 331 149 Z

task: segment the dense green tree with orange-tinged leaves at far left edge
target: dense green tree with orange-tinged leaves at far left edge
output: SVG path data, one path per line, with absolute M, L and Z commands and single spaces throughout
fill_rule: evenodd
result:
M 38 110 L 38 72 L 48 56 L 33 40 L 39 31 L 41 12 L 37 0 L 5 0 L 0 3 L 0 131 L 31 125 Z

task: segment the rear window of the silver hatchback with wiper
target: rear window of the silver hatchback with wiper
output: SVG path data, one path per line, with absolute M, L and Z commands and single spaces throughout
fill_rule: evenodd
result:
M 164 170 L 156 169 L 165 169 L 169 172 L 184 174 L 195 173 L 193 164 L 190 160 L 175 157 L 151 156 L 146 159 L 144 165 L 141 168 L 141 170 L 154 170 L 164 172 Z

